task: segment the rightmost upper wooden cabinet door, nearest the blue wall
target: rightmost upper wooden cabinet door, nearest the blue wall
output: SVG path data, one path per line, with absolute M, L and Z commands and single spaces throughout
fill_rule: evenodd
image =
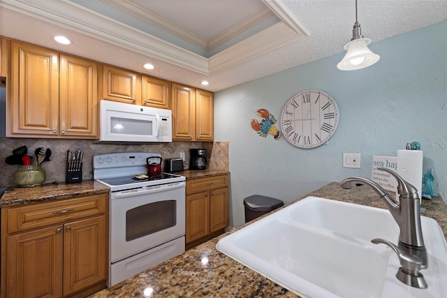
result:
M 196 139 L 214 139 L 214 95 L 212 92 L 196 91 Z

